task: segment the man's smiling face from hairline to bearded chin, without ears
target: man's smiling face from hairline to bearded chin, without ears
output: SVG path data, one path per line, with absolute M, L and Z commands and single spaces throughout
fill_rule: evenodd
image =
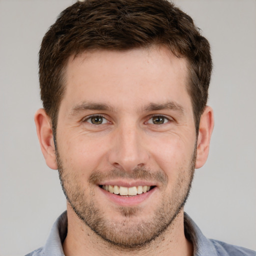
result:
M 144 244 L 182 209 L 196 155 L 186 81 L 185 59 L 163 47 L 70 57 L 59 174 L 77 216 L 105 240 Z

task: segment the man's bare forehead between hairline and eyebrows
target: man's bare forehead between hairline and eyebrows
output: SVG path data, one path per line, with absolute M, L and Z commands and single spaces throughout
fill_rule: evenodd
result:
M 186 59 L 165 47 L 92 50 L 69 57 L 63 100 L 70 107 L 86 100 L 139 107 L 177 98 L 190 101 L 186 86 Z

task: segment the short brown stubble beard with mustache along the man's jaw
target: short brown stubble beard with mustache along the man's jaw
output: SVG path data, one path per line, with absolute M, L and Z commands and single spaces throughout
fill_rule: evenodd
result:
M 57 150 L 56 159 L 62 190 L 78 218 L 109 245 L 115 245 L 122 249 L 130 250 L 145 247 L 156 237 L 159 237 L 164 231 L 171 227 L 175 217 L 183 209 L 193 179 L 196 147 L 192 154 L 190 164 L 187 167 L 188 169 L 180 170 L 178 181 L 172 193 L 162 198 L 150 219 L 144 216 L 145 213 L 141 212 L 142 209 L 139 206 L 117 207 L 117 214 L 119 212 L 123 216 L 122 220 L 116 221 L 114 216 L 112 220 L 107 219 L 104 209 L 101 208 L 100 205 L 96 205 L 96 200 L 93 198 L 94 190 L 91 183 L 99 172 L 95 171 L 92 173 L 89 186 L 84 188 L 79 186 L 77 176 L 63 168 Z M 148 178 L 148 176 L 153 176 L 154 178 L 157 176 L 164 177 L 163 171 L 151 172 L 143 168 L 135 169 L 132 172 L 133 174 L 127 174 L 121 170 L 112 170 L 111 173 L 112 174 L 108 174 L 111 177 L 115 177 L 116 173 L 122 173 L 118 174 L 118 176 L 131 175 L 133 178 L 138 175 L 141 178 L 143 176 L 145 178 Z M 161 181 L 163 180 L 161 179 Z M 138 221 L 136 217 L 139 216 L 139 214 L 141 215 Z

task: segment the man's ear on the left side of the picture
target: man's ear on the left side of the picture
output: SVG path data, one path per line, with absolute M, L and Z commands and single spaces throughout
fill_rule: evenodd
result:
M 57 169 L 51 121 L 43 108 L 36 111 L 34 122 L 45 162 L 51 169 Z

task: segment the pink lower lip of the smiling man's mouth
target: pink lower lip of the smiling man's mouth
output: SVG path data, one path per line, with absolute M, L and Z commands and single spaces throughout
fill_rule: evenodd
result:
M 111 201 L 114 203 L 120 205 L 120 206 L 134 206 L 137 204 L 142 203 L 144 200 L 146 200 L 150 195 L 152 195 L 156 191 L 156 187 L 153 187 L 146 193 L 142 194 L 137 194 L 133 196 L 122 196 L 122 195 L 117 195 L 114 193 L 110 193 L 103 188 L 99 189 L 106 195 Z

